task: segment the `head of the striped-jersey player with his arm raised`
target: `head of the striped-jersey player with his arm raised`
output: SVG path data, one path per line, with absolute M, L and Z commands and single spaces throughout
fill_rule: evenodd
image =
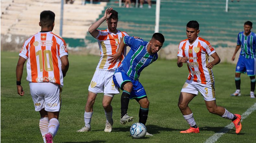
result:
M 108 29 L 110 32 L 115 32 L 116 31 L 116 27 L 117 27 L 117 22 L 118 22 L 118 13 L 115 10 L 111 10 L 112 13 L 109 17 L 109 19 L 106 20 L 107 24 L 108 24 Z

